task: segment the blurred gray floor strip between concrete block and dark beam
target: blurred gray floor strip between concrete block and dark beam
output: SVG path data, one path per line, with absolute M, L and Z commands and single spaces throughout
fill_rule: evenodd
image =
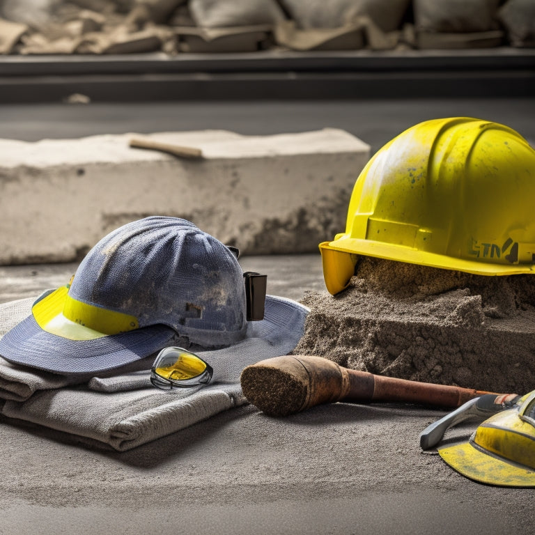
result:
M 534 98 L 139 102 L 138 104 L 0 105 L 0 137 L 37 141 L 125 132 L 222 129 L 239 134 L 347 130 L 373 152 L 406 128 L 440 117 L 503 123 L 535 144 Z

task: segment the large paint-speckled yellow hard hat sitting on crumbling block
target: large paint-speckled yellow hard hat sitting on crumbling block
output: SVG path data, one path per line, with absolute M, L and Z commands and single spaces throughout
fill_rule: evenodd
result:
M 481 275 L 535 272 L 535 150 L 511 128 L 457 117 L 383 146 L 352 192 L 346 232 L 320 243 L 336 294 L 357 255 Z

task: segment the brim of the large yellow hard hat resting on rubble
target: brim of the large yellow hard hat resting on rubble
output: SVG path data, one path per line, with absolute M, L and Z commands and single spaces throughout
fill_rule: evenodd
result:
M 453 258 L 442 254 L 429 253 L 403 245 L 347 238 L 345 236 L 332 242 L 320 243 L 319 247 L 322 256 L 325 286 L 327 286 L 327 290 L 332 295 L 341 292 L 347 287 L 355 270 L 357 255 L 359 254 L 477 275 L 535 274 L 535 265 L 533 264 L 478 262 L 465 258 Z

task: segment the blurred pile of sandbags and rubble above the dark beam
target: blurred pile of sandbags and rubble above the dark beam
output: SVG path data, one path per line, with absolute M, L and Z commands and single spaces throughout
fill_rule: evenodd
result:
M 534 0 L 3 0 L 0 54 L 535 46 Z

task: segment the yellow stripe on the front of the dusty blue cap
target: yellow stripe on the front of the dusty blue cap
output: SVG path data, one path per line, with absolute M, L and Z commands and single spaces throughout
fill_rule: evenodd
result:
M 137 318 L 75 300 L 62 286 L 33 305 L 39 327 L 70 340 L 93 340 L 139 327 Z

